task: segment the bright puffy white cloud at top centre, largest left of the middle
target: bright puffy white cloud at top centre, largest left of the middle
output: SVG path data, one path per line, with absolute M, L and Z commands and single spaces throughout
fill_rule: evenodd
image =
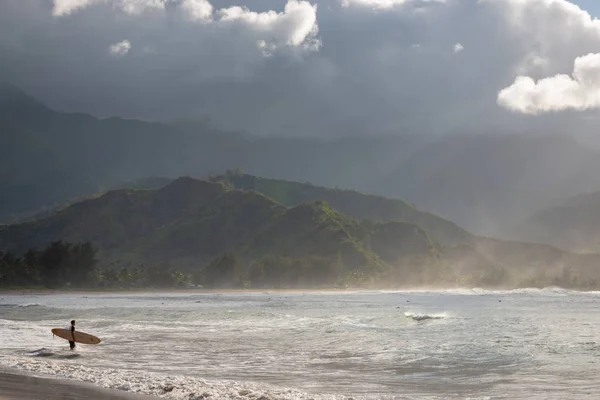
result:
M 308 1 L 288 0 L 283 12 L 257 13 L 245 7 L 224 8 L 217 12 L 220 23 L 239 23 L 250 28 L 261 48 L 317 45 L 317 6 Z

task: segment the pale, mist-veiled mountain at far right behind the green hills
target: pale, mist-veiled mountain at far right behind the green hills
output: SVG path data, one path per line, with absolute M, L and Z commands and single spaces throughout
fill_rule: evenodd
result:
M 512 237 L 516 222 L 557 199 L 600 188 L 599 169 L 600 153 L 572 135 L 455 135 L 416 151 L 370 191 L 471 232 Z

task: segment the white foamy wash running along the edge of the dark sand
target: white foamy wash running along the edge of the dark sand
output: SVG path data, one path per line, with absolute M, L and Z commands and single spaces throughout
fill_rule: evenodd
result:
M 42 350 L 42 349 L 40 349 Z M 278 400 L 345 400 L 341 395 L 314 395 L 297 389 L 250 382 L 205 380 L 188 376 L 172 376 L 144 371 L 92 368 L 70 362 L 38 358 L 5 357 L 0 364 L 34 376 L 88 382 L 109 389 L 175 400 L 196 399 L 278 399 Z

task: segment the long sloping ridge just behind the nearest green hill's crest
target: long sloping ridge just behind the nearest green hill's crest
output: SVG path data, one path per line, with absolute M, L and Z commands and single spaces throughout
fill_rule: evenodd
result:
M 330 189 L 309 183 L 261 178 L 241 171 L 229 171 L 212 177 L 213 181 L 233 185 L 236 189 L 254 190 L 286 206 L 325 201 L 340 212 L 372 221 L 403 221 L 423 228 L 432 239 L 444 246 L 467 243 L 470 233 L 451 221 L 418 210 L 402 200 L 369 195 L 354 190 Z

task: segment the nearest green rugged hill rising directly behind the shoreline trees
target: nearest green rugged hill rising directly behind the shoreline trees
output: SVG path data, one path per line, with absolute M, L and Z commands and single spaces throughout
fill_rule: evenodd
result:
M 352 271 L 389 273 L 405 259 L 437 263 L 434 244 L 416 225 L 358 222 L 324 202 L 288 208 L 257 192 L 191 178 L 158 190 L 110 191 L 0 230 L 4 251 L 58 240 L 93 243 L 104 265 L 169 262 L 191 271 L 226 254 L 244 265 L 284 257 L 295 262 L 290 268 L 331 269 L 336 279 Z

